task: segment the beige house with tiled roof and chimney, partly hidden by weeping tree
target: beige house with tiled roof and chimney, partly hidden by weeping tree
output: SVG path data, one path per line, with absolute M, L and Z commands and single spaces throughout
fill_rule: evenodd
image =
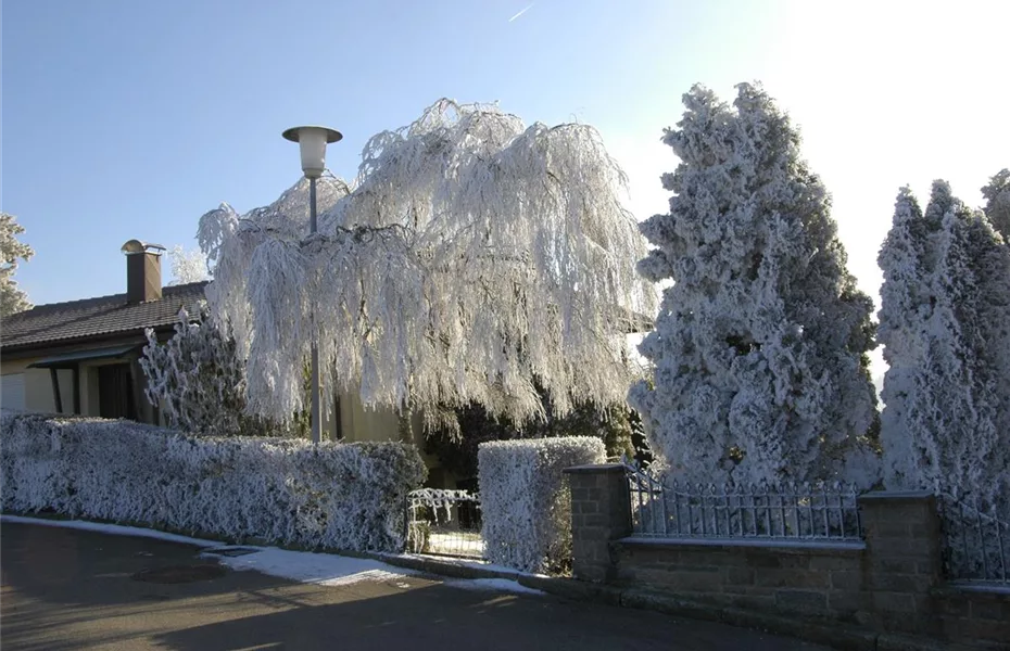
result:
M 169 339 L 180 309 L 200 314 L 207 284 L 162 286 L 164 251 L 139 240 L 123 245 L 125 293 L 39 305 L 0 319 L 0 408 L 164 424 L 144 395 L 138 362 L 144 331 Z M 411 437 L 391 409 L 365 409 L 353 394 L 325 399 L 333 400 L 333 409 L 324 438 Z

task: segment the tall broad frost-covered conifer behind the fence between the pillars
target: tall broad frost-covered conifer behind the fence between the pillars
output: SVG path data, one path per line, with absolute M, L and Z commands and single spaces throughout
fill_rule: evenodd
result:
M 759 87 L 733 106 L 696 86 L 664 142 L 670 213 L 642 224 L 639 264 L 665 290 L 629 399 L 674 477 L 872 483 L 873 309 L 846 271 L 820 179 Z

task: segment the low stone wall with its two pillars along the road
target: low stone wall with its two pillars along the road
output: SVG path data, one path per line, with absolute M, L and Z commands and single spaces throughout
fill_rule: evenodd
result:
M 1010 649 L 1010 589 L 947 584 L 935 498 L 859 498 L 864 542 L 629 537 L 619 464 L 570 469 L 577 579 L 872 631 Z M 1007 644 L 1007 647 L 1003 647 Z

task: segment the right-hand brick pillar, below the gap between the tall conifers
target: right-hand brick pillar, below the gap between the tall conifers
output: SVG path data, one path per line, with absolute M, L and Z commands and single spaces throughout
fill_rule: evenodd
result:
M 884 630 L 937 634 L 933 588 L 943 583 L 936 498 L 929 492 L 859 497 L 867 540 L 867 588 Z

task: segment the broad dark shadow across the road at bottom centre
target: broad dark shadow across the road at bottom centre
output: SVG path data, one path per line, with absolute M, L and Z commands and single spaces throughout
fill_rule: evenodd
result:
M 816 650 L 658 613 L 441 585 L 217 622 L 155 636 L 173 651 L 240 649 Z

